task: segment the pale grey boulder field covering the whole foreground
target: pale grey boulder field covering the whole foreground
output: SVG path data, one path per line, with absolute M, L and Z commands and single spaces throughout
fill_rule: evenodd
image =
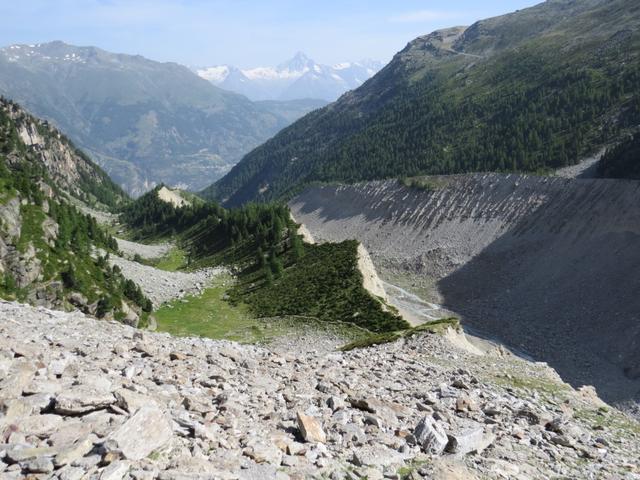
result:
M 640 426 L 545 365 L 451 331 L 335 345 L 0 302 L 0 478 L 640 478 Z

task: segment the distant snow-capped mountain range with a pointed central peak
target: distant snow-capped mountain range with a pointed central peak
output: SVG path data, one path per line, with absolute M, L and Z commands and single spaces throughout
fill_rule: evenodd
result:
M 196 72 L 217 87 L 251 100 L 318 98 L 333 102 L 343 93 L 358 88 L 383 66 L 375 60 L 320 65 L 299 52 L 277 67 L 239 69 L 220 65 L 198 68 Z

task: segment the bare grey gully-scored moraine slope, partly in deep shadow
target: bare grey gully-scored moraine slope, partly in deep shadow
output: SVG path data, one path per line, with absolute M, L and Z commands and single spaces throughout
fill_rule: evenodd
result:
M 383 278 L 605 399 L 640 398 L 640 183 L 475 174 L 312 187 L 318 240 L 356 238 Z M 430 295 L 430 296 L 429 296 Z

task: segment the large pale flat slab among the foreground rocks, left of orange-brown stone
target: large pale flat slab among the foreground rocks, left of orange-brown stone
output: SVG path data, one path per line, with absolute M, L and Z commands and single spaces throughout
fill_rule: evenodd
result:
M 142 407 L 129 420 L 109 435 L 125 458 L 141 460 L 163 447 L 173 435 L 171 424 L 162 410 Z

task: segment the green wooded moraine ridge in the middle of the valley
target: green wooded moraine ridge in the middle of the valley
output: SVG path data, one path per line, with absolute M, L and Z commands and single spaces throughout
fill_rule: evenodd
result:
M 190 267 L 232 268 L 238 282 L 230 299 L 246 303 L 255 316 L 306 316 L 374 332 L 408 327 L 363 288 L 357 242 L 306 244 L 281 204 L 176 207 L 160 200 L 160 188 L 130 204 L 122 220 L 139 238 L 178 239 Z

